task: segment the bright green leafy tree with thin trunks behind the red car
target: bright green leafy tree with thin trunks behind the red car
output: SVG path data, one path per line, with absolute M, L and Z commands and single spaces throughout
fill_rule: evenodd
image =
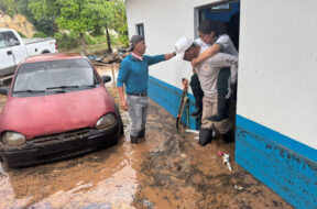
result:
M 121 42 L 128 45 L 123 0 L 29 0 L 28 8 L 35 20 L 55 20 L 59 29 L 78 34 L 85 53 L 85 33 L 98 36 L 105 32 L 111 52 L 109 29 L 114 29 Z

